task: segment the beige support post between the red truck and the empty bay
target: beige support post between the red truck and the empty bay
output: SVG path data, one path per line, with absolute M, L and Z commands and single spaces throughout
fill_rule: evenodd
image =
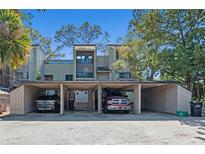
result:
M 141 84 L 134 86 L 134 113 L 141 113 Z

